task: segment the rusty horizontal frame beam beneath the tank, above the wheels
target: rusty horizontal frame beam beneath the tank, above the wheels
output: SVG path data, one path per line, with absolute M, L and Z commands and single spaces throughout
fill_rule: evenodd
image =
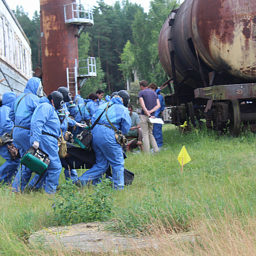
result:
M 256 98 L 256 83 L 198 88 L 194 92 L 195 97 L 202 97 L 209 100 L 238 100 L 244 98 Z

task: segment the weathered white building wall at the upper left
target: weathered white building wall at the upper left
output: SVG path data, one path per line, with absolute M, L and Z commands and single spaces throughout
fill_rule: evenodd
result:
M 32 76 L 31 46 L 5 0 L 0 0 L 0 101 L 4 92 L 19 95 Z

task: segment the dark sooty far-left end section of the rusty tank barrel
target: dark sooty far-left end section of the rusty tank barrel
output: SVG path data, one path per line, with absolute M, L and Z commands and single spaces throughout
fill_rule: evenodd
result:
M 170 51 L 174 51 L 177 80 L 181 81 L 185 77 L 190 77 L 185 84 L 196 89 L 202 87 L 202 80 L 200 79 L 196 54 L 193 50 L 193 42 L 191 42 L 192 6 L 193 0 L 186 0 L 179 6 L 179 10 L 172 13 L 172 16 L 164 22 L 159 35 L 159 58 L 164 70 L 171 77 Z M 169 19 L 173 19 L 172 26 L 169 26 Z M 205 71 L 205 74 L 208 74 L 208 71 Z

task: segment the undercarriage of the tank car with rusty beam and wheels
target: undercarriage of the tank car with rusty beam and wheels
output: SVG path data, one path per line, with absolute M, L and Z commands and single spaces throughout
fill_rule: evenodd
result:
M 211 86 L 194 90 L 194 99 L 171 109 L 171 123 L 188 122 L 237 136 L 243 129 L 256 132 L 256 83 Z M 175 95 L 172 96 L 175 98 Z

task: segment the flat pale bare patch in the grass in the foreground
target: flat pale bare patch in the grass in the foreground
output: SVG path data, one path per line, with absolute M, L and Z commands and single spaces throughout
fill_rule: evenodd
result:
M 80 223 L 64 227 L 44 228 L 31 235 L 29 242 L 45 243 L 49 246 L 65 246 L 66 249 L 82 252 L 101 253 L 146 248 L 157 249 L 160 246 L 157 237 L 127 237 L 113 234 L 105 231 L 104 225 L 106 223 Z M 167 235 L 165 239 L 173 240 L 174 236 Z

